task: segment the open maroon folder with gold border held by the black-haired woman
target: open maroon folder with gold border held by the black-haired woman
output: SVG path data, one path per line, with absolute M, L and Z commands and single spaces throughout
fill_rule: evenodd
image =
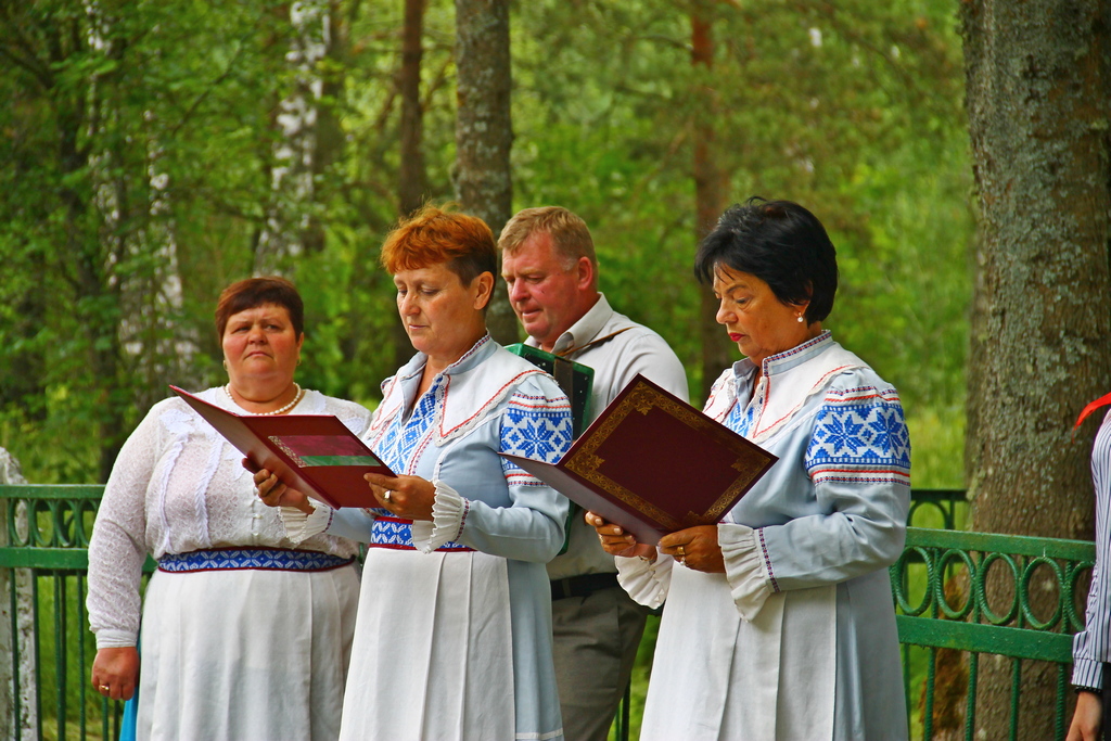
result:
M 779 460 L 639 374 L 558 463 L 501 455 L 652 545 L 719 522 Z

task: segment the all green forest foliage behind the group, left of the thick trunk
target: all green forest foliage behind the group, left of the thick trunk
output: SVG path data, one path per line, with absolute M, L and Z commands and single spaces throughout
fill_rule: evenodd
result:
M 216 297 L 251 272 L 277 207 L 323 236 L 288 262 L 308 313 L 299 381 L 373 404 L 410 351 L 377 262 L 398 216 L 401 3 L 333 3 L 317 72 L 334 153 L 309 200 L 271 172 L 303 74 L 287 4 L 97 8 L 0 10 L 0 444 L 33 481 L 98 480 L 167 382 L 222 382 Z M 709 69 L 691 64 L 695 9 Z M 452 3 L 428 3 L 424 40 L 428 197 L 444 201 Z M 672 343 L 692 389 L 692 148 L 709 123 L 731 201 L 791 198 L 825 222 L 842 274 L 829 327 L 900 389 L 915 483 L 960 483 L 972 223 L 949 3 L 539 0 L 514 7 L 512 43 L 516 206 L 587 220 L 611 303 Z

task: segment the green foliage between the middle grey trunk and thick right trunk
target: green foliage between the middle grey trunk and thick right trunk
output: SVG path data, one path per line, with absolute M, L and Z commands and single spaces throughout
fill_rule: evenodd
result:
M 715 3 L 707 71 L 690 62 L 687 7 L 572 4 L 575 23 L 565 3 L 521 8 L 519 204 L 583 216 L 611 302 L 660 331 L 698 388 L 692 142 L 713 116 L 731 201 L 790 198 L 829 228 L 841 289 L 827 327 L 925 431 L 915 483 L 960 485 L 973 224 L 952 9 Z

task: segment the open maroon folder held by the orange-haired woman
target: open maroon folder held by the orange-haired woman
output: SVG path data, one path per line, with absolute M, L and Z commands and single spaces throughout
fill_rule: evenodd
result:
M 236 414 L 176 385 L 170 387 L 259 468 L 282 483 L 341 507 L 378 507 L 362 478 L 393 472 L 332 414 Z

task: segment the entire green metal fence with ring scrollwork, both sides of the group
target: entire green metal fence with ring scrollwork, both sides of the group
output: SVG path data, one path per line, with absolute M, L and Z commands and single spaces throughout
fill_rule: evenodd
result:
M 87 548 L 102 491 L 99 485 L 0 485 L 6 535 L 0 579 L 8 582 L 11 613 L 14 739 L 118 735 L 119 703 L 104 700 L 88 681 L 96 648 L 84 611 Z M 1024 662 L 1049 661 L 1057 664 L 1054 733 L 1063 739 L 1071 634 L 1082 625 L 1080 592 L 1094 545 L 952 530 L 963 522 L 967 508 L 963 491 L 915 491 L 912 524 L 941 529 L 910 528 L 907 548 L 891 569 L 913 735 L 937 738 L 939 682 L 944 684 L 939 657 L 948 655 L 967 678 L 955 691 L 963 738 L 973 739 L 982 709 L 977 702 L 980 657 L 999 654 L 1011 663 L 1013 678 L 1011 738 L 1018 737 L 1022 720 L 1018 707 Z M 147 570 L 153 565 L 148 560 Z M 999 588 L 995 581 L 1010 587 Z M 1040 593 L 1045 583 L 1055 590 L 1055 607 L 1030 599 L 1035 582 Z M 999 589 L 1012 595 L 1002 608 L 989 599 Z M 945 692 L 954 691 L 952 684 Z M 614 731 L 618 739 L 629 738 L 628 700 Z

